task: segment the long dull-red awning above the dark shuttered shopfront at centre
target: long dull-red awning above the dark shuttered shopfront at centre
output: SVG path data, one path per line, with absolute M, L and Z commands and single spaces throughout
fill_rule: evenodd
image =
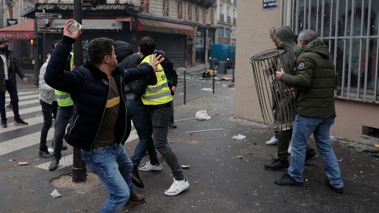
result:
M 175 24 L 164 21 L 137 18 L 137 31 L 152 31 L 158 33 L 193 35 L 194 30 L 189 25 Z

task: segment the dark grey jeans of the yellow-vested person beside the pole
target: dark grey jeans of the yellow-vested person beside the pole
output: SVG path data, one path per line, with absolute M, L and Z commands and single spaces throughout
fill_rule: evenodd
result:
M 55 118 L 54 130 L 54 151 L 53 158 L 60 160 L 62 157 L 63 137 L 66 133 L 66 127 L 73 115 L 74 106 L 58 106 L 57 117 Z

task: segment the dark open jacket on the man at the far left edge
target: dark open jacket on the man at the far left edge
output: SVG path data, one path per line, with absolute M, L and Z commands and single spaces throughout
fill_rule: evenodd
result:
M 8 51 L 5 53 L 6 60 L 8 61 L 8 78 L 12 80 L 12 85 L 16 88 L 16 74 L 23 79 L 25 77 L 24 72 L 18 65 L 16 59 L 13 56 L 13 52 Z M 4 75 L 4 63 L 0 58 L 0 92 L 5 92 L 5 75 Z

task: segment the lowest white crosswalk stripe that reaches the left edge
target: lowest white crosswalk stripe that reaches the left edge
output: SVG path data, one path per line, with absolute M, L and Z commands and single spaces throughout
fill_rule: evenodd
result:
M 14 138 L 5 142 L 0 142 L 0 155 L 8 154 L 10 152 L 23 149 L 39 143 L 41 132 L 35 132 L 26 136 Z M 53 139 L 54 128 L 51 128 L 47 134 L 46 141 Z M 38 153 L 38 150 L 36 150 Z

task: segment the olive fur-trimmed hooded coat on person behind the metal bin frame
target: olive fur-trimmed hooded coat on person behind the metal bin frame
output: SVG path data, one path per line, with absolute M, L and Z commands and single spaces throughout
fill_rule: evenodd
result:
M 287 73 L 292 73 L 295 66 L 294 63 L 297 47 L 292 37 L 292 30 L 289 27 L 280 27 L 278 29 L 271 29 L 269 34 L 276 47 L 285 51 L 282 54 L 284 71 Z M 274 78 L 274 82 L 272 83 L 273 87 L 271 92 L 275 92 L 277 96 L 281 97 L 279 100 L 275 100 L 275 95 L 272 95 L 272 102 L 274 103 L 274 109 L 276 109 L 277 121 L 285 122 L 291 120 L 290 116 L 295 114 L 295 106 L 292 104 L 293 97 L 284 92 L 284 89 L 287 88 L 287 86 L 283 85 L 282 82 Z

